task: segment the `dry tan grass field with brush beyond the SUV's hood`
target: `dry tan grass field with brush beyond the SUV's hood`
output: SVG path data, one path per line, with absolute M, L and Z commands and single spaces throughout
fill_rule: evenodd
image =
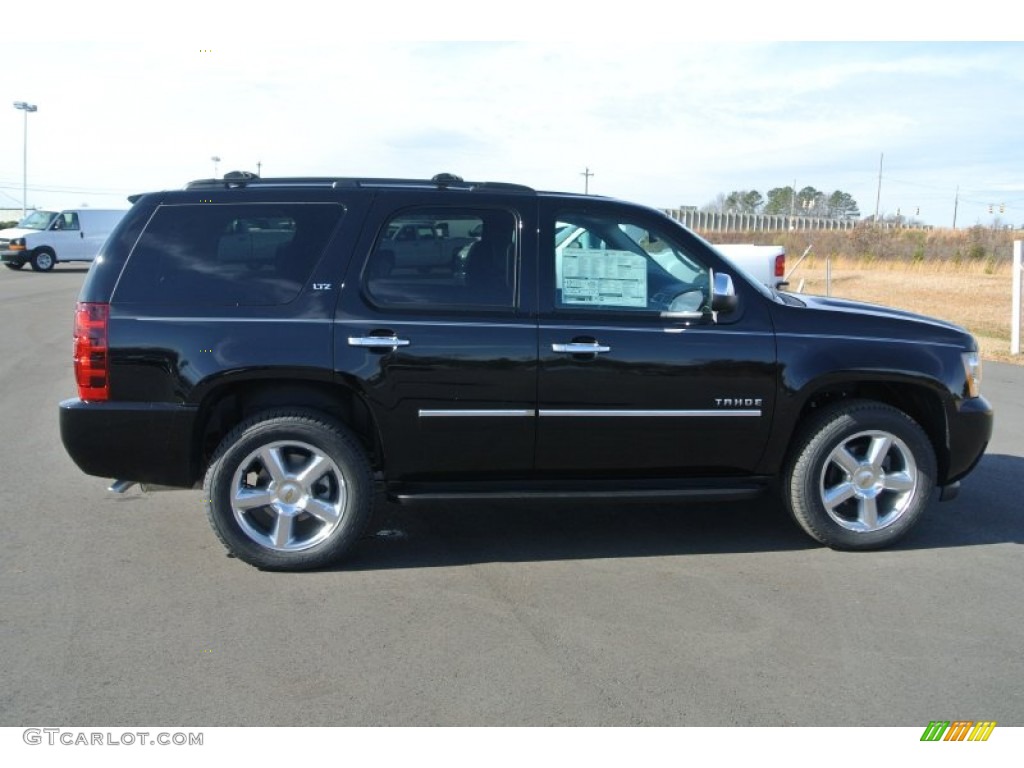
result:
M 1024 365 L 1010 354 L 1014 240 L 1022 232 L 858 227 L 848 231 L 703 232 L 713 243 L 784 245 L 790 290 L 929 314 L 967 328 L 987 359 Z M 804 250 L 810 255 L 797 266 Z M 796 267 L 796 269 L 794 269 Z

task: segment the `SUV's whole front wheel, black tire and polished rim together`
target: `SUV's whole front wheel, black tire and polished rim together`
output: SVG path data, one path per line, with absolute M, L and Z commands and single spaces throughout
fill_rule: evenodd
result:
M 833 549 L 886 547 L 921 517 L 935 487 L 935 450 L 910 417 L 845 400 L 811 417 L 782 478 L 800 526 Z

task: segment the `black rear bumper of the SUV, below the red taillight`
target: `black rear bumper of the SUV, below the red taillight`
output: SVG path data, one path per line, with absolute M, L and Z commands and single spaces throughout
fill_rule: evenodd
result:
M 60 403 L 60 439 L 79 469 L 160 485 L 193 487 L 197 409 L 173 403 Z

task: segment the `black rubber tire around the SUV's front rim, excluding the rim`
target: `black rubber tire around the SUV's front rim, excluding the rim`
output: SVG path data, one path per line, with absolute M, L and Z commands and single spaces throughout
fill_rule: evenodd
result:
M 868 431 L 888 432 L 904 442 L 916 464 L 914 496 L 900 516 L 885 527 L 856 531 L 843 527 L 825 510 L 821 474 L 836 447 Z M 936 480 L 935 451 L 925 431 L 904 413 L 882 403 L 840 403 L 808 425 L 787 473 L 786 506 L 814 539 L 835 549 L 878 549 L 902 538 L 928 507 Z

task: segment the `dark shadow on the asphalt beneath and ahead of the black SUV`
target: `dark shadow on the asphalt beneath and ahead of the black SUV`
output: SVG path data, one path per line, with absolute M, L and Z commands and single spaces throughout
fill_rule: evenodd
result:
M 1014 501 L 1024 459 L 986 456 L 959 497 L 932 502 L 889 551 L 1024 543 Z M 738 554 L 819 549 L 772 495 L 743 503 L 431 503 L 380 499 L 368 535 L 340 570 L 481 562 Z

